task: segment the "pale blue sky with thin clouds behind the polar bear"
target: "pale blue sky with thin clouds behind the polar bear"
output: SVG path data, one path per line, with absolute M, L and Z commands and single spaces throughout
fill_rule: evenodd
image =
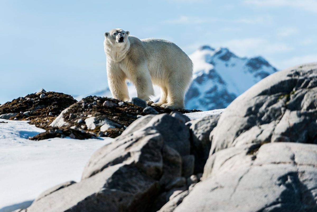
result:
M 317 0 L 0 0 L 0 103 L 40 88 L 72 95 L 107 87 L 103 34 L 262 55 L 278 69 L 317 61 Z

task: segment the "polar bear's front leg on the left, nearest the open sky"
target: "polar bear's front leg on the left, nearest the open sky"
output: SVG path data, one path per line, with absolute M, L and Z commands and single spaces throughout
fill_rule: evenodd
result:
M 126 85 L 126 74 L 120 70 L 119 67 L 109 66 L 107 67 L 108 86 L 113 95 L 113 98 L 122 101 L 129 100 L 128 87 Z

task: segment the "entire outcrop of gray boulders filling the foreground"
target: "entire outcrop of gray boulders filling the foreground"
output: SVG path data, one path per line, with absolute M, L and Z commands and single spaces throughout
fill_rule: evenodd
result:
M 220 117 L 143 116 L 27 212 L 317 211 L 316 79 L 317 63 L 277 72 Z

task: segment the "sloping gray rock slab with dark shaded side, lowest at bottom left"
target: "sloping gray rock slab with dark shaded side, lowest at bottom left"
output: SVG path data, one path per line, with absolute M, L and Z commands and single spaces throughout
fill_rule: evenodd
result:
M 158 183 L 133 165 L 117 164 L 34 202 L 28 212 L 146 211 Z

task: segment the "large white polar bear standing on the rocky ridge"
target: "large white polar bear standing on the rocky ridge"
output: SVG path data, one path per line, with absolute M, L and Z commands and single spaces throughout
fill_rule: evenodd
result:
M 114 98 L 129 99 L 126 80 L 139 98 L 149 101 L 153 84 L 161 88 L 159 102 L 152 105 L 184 108 L 185 93 L 191 83 L 193 64 L 176 44 L 162 39 L 138 39 L 129 31 L 113 29 L 105 33 L 108 85 Z

